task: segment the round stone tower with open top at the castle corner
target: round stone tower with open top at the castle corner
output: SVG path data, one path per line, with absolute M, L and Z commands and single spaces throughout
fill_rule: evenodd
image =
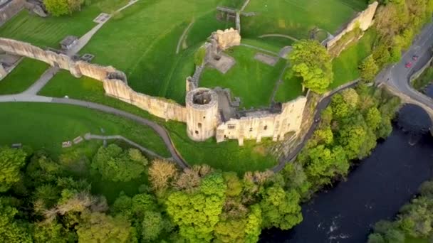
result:
M 219 123 L 218 95 L 207 88 L 197 88 L 187 93 L 187 134 L 194 141 L 204 141 L 215 136 Z

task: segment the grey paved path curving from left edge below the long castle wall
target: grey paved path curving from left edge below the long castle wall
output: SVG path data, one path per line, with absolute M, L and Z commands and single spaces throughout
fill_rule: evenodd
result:
M 56 103 L 56 104 L 72 104 L 79 107 L 87 107 L 90 109 L 95 109 L 100 112 L 115 114 L 120 117 L 125 117 L 127 119 L 131 119 L 133 121 L 137 121 L 140 124 L 144 124 L 146 126 L 150 126 L 153 130 L 157 132 L 164 141 L 167 146 L 169 152 L 172 155 L 174 162 L 176 162 L 181 168 L 187 168 L 188 164 L 184 161 L 184 159 L 179 155 L 176 148 L 172 144 L 172 139 L 170 138 L 167 130 L 165 130 L 162 126 L 155 123 L 154 121 L 150 121 L 148 119 L 144 119 L 142 117 L 138 117 L 135 114 L 130 114 L 124 112 L 120 109 L 115 109 L 113 107 L 108 107 L 103 104 L 96 104 L 93 102 L 85 102 L 78 99 L 66 99 L 66 98 L 53 98 L 53 97 L 43 97 L 39 95 L 2 95 L 0 96 L 0 102 L 41 102 L 41 103 Z

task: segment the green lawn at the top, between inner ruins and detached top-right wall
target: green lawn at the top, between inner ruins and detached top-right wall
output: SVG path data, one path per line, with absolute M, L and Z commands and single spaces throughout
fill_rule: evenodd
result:
M 242 35 L 257 38 L 278 33 L 308 38 L 314 27 L 335 33 L 365 6 L 362 0 L 251 0 L 245 11 L 258 14 L 241 18 Z

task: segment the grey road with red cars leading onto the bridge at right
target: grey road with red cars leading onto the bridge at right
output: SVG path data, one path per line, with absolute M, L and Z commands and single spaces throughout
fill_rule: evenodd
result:
M 393 91 L 398 91 L 405 97 L 412 99 L 412 102 L 419 103 L 427 112 L 433 114 L 433 100 L 426 95 L 414 90 L 409 84 L 409 76 L 422 68 L 432 57 L 431 47 L 433 45 L 433 23 L 426 26 L 414 41 L 411 48 L 403 55 L 400 63 L 393 65 L 385 71 L 385 77 L 377 80 L 377 83 L 390 87 Z M 418 55 L 417 61 L 412 60 L 412 56 Z M 405 68 L 407 62 L 412 62 L 412 68 Z

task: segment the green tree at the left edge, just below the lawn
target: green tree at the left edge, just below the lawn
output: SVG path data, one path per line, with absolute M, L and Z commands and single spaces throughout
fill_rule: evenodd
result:
M 0 147 L 0 192 L 6 192 L 20 180 L 20 169 L 26 163 L 22 149 Z

